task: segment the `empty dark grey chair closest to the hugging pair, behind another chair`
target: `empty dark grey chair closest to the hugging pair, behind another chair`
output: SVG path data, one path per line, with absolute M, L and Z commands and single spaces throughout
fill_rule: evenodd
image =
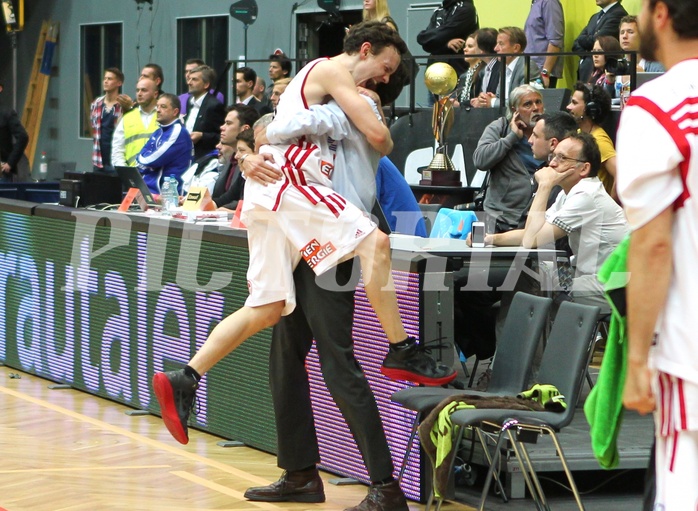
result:
M 488 394 L 513 395 L 524 389 L 551 305 L 550 298 L 516 293 L 504 322 L 502 339 L 497 346 L 497 357 L 492 364 Z M 462 390 L 441 387 L 410 387 L 390 397 L 391 401 L 417 412 L 407 450 L 400 465 L 398 480 L 402 479 L 407 468 L 410 447 L 422 417 L 447 397 L 462 393 Z M 476 392 L 469 390 L 468 393 Z

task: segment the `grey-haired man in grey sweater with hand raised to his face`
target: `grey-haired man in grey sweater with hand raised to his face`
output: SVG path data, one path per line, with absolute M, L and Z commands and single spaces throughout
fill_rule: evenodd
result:
M 521 85 L 511 92 L 509 105 L 509 114 L 485 128 L 473 152 L 476 168 L 490 172 L 484 203 L 490 232 L 519 226 L 536 188 L 533 174 L 542 163 L 533 157 L 528 143 L 537 116 L 543 113 L 540 91 Z

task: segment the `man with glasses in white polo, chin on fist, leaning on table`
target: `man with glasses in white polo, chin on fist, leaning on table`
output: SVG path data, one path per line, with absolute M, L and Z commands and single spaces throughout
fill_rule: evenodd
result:
M 576 267 L 571 289 L 574 301 L 607 308 L 596 274 L 627 234 L 628 225 L 623 210 L 597 177 L 601 166 L 598 145 L 587 133 L 573 133 L 557 145 L 548 160 L 549 165 L 535 174 L 538 190 L 526 226 L 488 234 L 485 243 L 537 248 L 567 236 Z M 546 210 L 556 185 L 562 192 Z

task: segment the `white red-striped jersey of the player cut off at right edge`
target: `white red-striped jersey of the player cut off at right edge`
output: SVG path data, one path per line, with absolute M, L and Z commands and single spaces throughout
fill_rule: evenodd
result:
M 653 363 L 698 383 L 698 60 L 676 64 L 630 96 L 617 136 L 616 186 L 631 229 L 674 208 L 669 294 Z

